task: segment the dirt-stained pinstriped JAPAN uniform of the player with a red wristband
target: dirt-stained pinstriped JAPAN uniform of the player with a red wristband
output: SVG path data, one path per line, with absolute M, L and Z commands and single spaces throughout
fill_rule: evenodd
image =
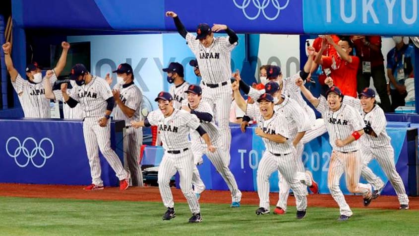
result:
M 353 132 L 362 130 L 364 128 L 363 120 L 353 107 L 346 104 L 342 104 L 339 110 L 333 112 L 330 110 L 324 96 L 320 96 L 316 109 L 325 120 L 330 137 L 329 143 L 332 146 L 327 186 L 333 199 L 339 205 L 340 214 L 352 216 L 352 211 L 339 187 L 342 174 L 345 173 L 347 188 L 352 193 L 360 193 L 363 196 L 367 196 L 371 193 L 371 185 L 359 183 L 362 157 L 358 141 L 354 141 L 344 147 L 337 147 L 335 142 L 337 139 L 345 140 Z

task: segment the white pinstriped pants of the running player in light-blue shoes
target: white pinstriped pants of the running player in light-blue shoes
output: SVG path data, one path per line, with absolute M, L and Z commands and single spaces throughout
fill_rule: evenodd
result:
M 208 159 L 214 165 L 217 172 L 220 173 L 221 177 L 223 177 L 224 181 L 226 182 L 232 195 L 232 202 L 240 202 L 241 192 L 237 185 L 236 179 L 233 173 L 231 172 L 228 166 L 227 160 L 225 158 L 227 156 L 227 152 L 222 148 L 217 148 L 214 153 L 211 153 L 206 150 L 206 145 L 196 145 L 196 144 L 195 145 L 192 144 L 192 149 L 193 149 L 193 155 L 194 155 L 195 160 L 199 160 L 199 158 L 202 159 L 202 155 L 204 153 L 207 155 Z M 199 191 L 202 189 L 203 182 L 199 176 L 199 171 L 197 168 L 196 168 L 196 173 L 194 170 L 193 175 L 194 176 L 192 177 L 192 184 L 195 186 L 195 193 L 201 193 L 203 190 L 201 192 Z M 204 185 L 204 190 L 205 190 L 205 185 Z

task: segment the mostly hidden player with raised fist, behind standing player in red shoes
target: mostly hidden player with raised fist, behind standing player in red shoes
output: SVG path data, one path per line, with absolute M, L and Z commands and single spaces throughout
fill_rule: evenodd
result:
M 50 78 L 53 75 L 54 75 L 53 71 L 47 71 L 47 75 L 45 76 L 45 83 L 44 83 L 45 97 L 51 100 L 55 100 L 55 101 L 63 101 L 61 90 L 60 89 L 52 90 L 53 88 L 51 86 Z M 62 82 L 66 82 L 67 86 L 68 86 L 68 83 L 70 83 L 71 88 L 73 88 L 76 85 L 76 82 L 74 80 L 62 81 Z M 68 95 L 71 94 L 71 88 L 67 89 Z M 64 115 L 64 119 L 83 119 L 83 111 L 81 110 L 80 104 L 78 103 L 74 108 L 71 108 L 68 106 L 67 103 L 63 102 L 62 113 Z

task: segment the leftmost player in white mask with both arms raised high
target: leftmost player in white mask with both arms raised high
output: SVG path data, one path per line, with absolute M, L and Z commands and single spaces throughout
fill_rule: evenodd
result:
M 67 52 L 70 44 L 61 43 L 62 53 L 57 66 L 54 68 L 54 75 L 51 76 L 50 82 L 54 84 L 57 77 L 60 76 L 67 61 Z M 4 52 L 4 60 L 7 71 L 10 74 L 11 83 L 14 90 L 18 94 L 19 101 L 22 104 L 23 113 L 26 118 L 50 118 L 50 100 L 45 97 L 45 78 L 42 78 L 41 69 L 36 62 L 27 65 L 26 76 L 28 80 L 23 79 L 17 70 L 13 67 L 10 56 L 11 44 L 2 45 Z

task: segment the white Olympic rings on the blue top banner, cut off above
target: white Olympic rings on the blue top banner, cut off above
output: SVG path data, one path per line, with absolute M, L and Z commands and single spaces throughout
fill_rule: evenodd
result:
M 250 1 L 253 2 L 253 5 L 257 8 L 257 13 L 255 16 L 249 16 L 246 12 L 246 8 L 249 6 Z M 271 3 L 272 1 L 272 5 L 277 9 L 277 12 L 274 16 L 268 16 L 265 12 L 265 9 L 268 7 L 269 3 Z M 290 0 L 287 0 L 287 2 L 285 3 L 285 5 L 281 6 L 279 3 L 280 0 L 263 0 L 262 4 L 260 3 L 259 0 L 243 0 L 243 2 L 240 4 L 238 4 L 236 2 L 236 0 L 233 0 L 234 4 L 236 5 L 236 7 L 238 7 L 239 9 L 241 9 L 243 11 L 244 16 L 249 19 L 249 20 L 254 20 L 257 17 L 259 17 L 260 12 L 262 12 L 263 16 L 265 16 L 265 18 L 267 20 L 275 20 L 278 18 L 279 13 L 281 12 L 281 10 L 287 8 L 288 3 L 290 3 Z

